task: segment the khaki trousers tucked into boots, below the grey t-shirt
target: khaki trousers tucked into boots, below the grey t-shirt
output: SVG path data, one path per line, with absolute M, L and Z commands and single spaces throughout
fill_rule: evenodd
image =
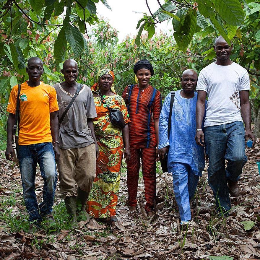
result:
M 96 177 L 95 144 L 74 149 L 59 149 L 57 162 L 61 197 L 77 196 L 76 183 L 83 191 L 90 191 Z

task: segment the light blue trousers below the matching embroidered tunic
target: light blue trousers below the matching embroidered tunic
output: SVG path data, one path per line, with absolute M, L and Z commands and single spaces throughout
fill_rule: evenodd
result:
M 173 191 L 178 204 L 181 221 L 191 220 L 190 202 L 197 189 L 199 176 L 186 163 L 174 163 L 169 169 L 173 174 Z

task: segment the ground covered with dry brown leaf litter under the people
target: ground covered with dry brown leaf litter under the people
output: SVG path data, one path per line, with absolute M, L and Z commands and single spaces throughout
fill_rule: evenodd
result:
M 260 176 L 256 161 L 260 161 L 260 142 L 254 149 L 246 148 L 248 162 L 239 180 L 241 195 L 231 198 L 233 209 L 225 221 L 214 217 L 214 197 L 203 173 L 198 194 L 193 202 L 193 220 L 181 229 L 178 207 L 173 197 L 170 174 L 157 174 L 156 214 L 147 219 L 144 211 L 144 184 L 138 188 L 138 214 L 129 216 L 126 174 L 121 176 L 116 228 L 94 219 L 79 222 L 77 230 L 27 234 L 17 228 L 11 232 L 0 220 L 0 260 L 5 259 L 208 259 L 207 256 L 230 256 L 234 259 L 260 259 Z M 0 159 L 0 213 L 4 207 L 17 220 L 23 220 L 19 168 Z M 158 172 L 160 169 L 158 169 Z M 36 194 L 42 196 L 43 181 L 37 174 Z M 11 195 L 11 197 L 10 197 Z M 3 204 L 9 198 L 12 201 Z M 57 185 L 55 204 L 61 201 Z M 11 205 L 12 204 L 12 205 Z M 4 205 L 4 206 L 3 206 Z M 22 212 L 22 215 L 20 214 Z M 242 221 L 254 221 L 248 231 Z

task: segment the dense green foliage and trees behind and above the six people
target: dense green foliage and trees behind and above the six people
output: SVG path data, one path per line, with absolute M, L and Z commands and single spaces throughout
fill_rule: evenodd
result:
M 95 82 L 99 69 L 109 66 L 115 72 L 119 94 L 134 83 L 135 61 L 148 58 L 155 67 L 151 84 L 165 97 L 180 87 L 184 69 L 199 72 L 215 59 L 213 43 L 221 34 L 234 43 L 231 59 L 251 74 L 253 119 L 259 129 L 259 0 L 168 0 L 138 22 L 137 37 L 126 37 L 120 43 L 116 29 L 98 19 L 98 1 L 0 0 L 2 126 L 6 124 L 4 111 L 11 88 L 27 79 L 25 67 L 31 56 L 43 59 L 42 80 L 50 85 L 62 79 L 60 70 L 65 58 L 78 61 L 79 81 L 88 85 Z M 110 8 L 105 0 L 102 2 Z M 169 22 L 172 31 L 168 35 L 155 33 L 158 22 Z M 93 29 L 86 31 L 85 23 L 94 25 Z M 143 30 L 147 33 L 142 34 Z

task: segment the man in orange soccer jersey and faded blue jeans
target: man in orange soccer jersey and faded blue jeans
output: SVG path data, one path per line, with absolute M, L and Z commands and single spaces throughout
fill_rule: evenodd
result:
M 58 150 L 58 111 L 56 90 L 40 81 L 43 61 L 38 57 L 28 60 L 26 72 L 29 80 L 21 84 L 19 95 L 19 166 L 23 196 L 29 221 L 40 223 L 43 219 L 55 225 L 52 217 L 53 199 L 57 183 L 55 159 Z M 13 160 L 12 131 L 15 121 L 18 85 L 14 86 L 7 106 L 7 145 L 5 156 Z M 53 139 L 53 144 L 52 144 Z M 43 202 L 38 205 L 35 195 L 37 163 L 43 177 Z

